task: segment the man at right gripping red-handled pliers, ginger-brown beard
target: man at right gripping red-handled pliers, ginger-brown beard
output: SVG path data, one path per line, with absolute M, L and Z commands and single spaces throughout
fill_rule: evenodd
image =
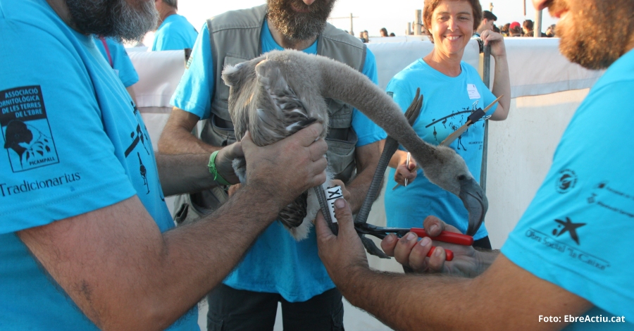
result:
M 351 304 L 398 330 L 634 330 L 634 25 L 630 0 L 534 0 L 561 17 L 562 54 L 607 68 L 580 104 L 552 168 L 502 251 L 386 237 L 388 255 L 414 270 L 466 277 L 381 274 L 369 270 L 343 200 L 340 235 L 316 220 L 319 254 Z M 588 10 L 592 8 L 592 10 Z M 578 23 L 592 26 L 580 32 Z M 343 220 L 343 221 L 342 221 Z M 430 235 L 458 232 L 437 218 Z M 433 239 L 433 238 L 432 238 Z M 454 251 L 445 261 L 445 249 Z M 345 254 L 342 254 L 345 252 Z

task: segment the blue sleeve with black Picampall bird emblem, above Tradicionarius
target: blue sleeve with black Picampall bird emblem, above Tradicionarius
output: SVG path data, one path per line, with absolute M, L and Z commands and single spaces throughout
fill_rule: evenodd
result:
M 118 85 L 117 96 L 123 98 L 125 89 L 101 54 L 97 49 L 94 56 L 87 54 L 74 36 L 49 35 L 25 24 L 8 31 L 0 37 L 0 104 L 11 104 L 0 116 L 0 233 L 77 216 L 134 195 L 106 135 L 85 65 L 101 63 L 108 85 Z M 132 106 L 120 110 L 131 111 Z

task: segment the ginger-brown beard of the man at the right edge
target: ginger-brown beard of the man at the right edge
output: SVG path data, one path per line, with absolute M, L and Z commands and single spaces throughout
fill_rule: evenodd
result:
M 566 24 L 557 23 L 559 50 L 570 61 L 584 68 L 598 70 L 609 67 L 627 50 L 634 25 L 630 1 L 589 1 L 580 8 L 568 8 L 572 18 Z M 628 3 L 630 2 L 630 3 Z M 566 8 L 561 0 L 549 5 L 550 13 Z M 591 9 L 589 9 L 591 8 Z M 620 22 L 618 24 L 614 24 Z

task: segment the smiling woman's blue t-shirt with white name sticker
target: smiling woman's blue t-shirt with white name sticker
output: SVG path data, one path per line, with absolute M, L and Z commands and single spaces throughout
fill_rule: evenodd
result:
M 460 68 L 460 75 L 449 77 L 419 58 L 397 73 L 387 84 L 387 94 L 392 95 L 403 112 L 416 96 L 416 89 L 421 89 L 423 109 L 414 123 L 414 131 L 425 142 L 440 144 L 466 123 L 468 115 L 495 100 L 475 68 L 464 62 L 460 63 Z M 487 115 L 491 115 L 495 109 L 497 105 L 491 107 Z M 484 121 L 480 120 L 449 145 L 464 158 L 469 171 L 478 182 L 482 167 L 483 137 Z M 421 227 L 425 217 L 433 215 L 454 225 L 461 232 L 466 232 L 468 213 L 458 196 L 430 182 L 423 175 L 423 170 L 418 170 L 416 180 L 407 187 L 399 186 L 392 190 L 397 184 L 394 173 L 396 170 L 390 169 L 385 191 L 387 226 Z M 473 237 L 477 240 L 487 235 L 483 224 Z

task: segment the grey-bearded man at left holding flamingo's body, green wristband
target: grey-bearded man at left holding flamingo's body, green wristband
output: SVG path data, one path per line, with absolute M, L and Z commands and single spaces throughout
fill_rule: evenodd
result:
M 136 40 L 155 24 L 151 0 L 0 0 L 0 329 L 199 330 L 197 302 L 324 182 L 319 124 L 266 147 L 247 135 L 212 174 L 209 153 L 155 155 L 92 37 Z M 237 182 L 243 155 L 240 192 L 173 229 L 164 196 Z M 292 179 L 275 177 L 282 165 Z

